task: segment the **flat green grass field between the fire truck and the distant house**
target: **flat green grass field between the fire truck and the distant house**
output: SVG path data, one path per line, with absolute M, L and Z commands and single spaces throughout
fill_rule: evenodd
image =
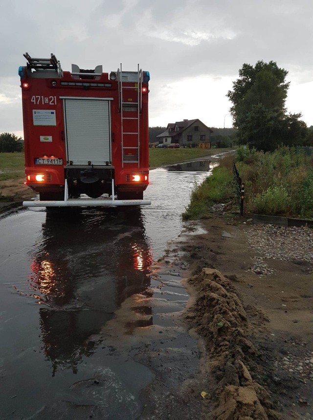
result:
M 149 149 L 150 168 L 192 161 L 203 156 L 212 156 L 229 149 Z

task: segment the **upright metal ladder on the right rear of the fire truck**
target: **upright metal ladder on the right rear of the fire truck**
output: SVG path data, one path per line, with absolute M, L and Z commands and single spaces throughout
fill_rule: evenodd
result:
M 137 163 L 139 167 L 139 123 L 142 107 L 142 70 L 139 69 L 138 64 L 137 71 L 123 71 L 121 64 L 117 77 L 119 83 L 119 109 L 122 121 L 122 167 L 124 167 L 125 163 Z M 127 92 L 136 93 L 136 102 L 133 100 L 125 100 Z M 131 117 L 127 116 L 129 114 L 131 114 Z M 134 131 L 134 126 L 136 126 L 136 131 Z M 130 141 L 130 139 L 134 139 L 134 137 L 136 141 Z M 136 145 L 127 146 L 126 144 L 129 142 Z

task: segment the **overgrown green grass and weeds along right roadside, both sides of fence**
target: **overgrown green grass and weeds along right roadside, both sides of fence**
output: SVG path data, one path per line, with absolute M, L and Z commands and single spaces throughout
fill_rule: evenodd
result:
M 226 156 L 212 176 L 191 193 L 184 219 L 206 217 L 215 203 L 237 207 L 232 161 L 245 184 L 245 213 L 313 219 L 313 156 L 280 147 L 272 153 L 238 148 L 237 156 Z

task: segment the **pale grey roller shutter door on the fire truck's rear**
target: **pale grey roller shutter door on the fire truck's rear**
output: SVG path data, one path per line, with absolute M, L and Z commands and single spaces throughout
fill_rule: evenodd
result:
M 111 163 L 109 107 L 108 100 L 64 99 L 68 161 Z

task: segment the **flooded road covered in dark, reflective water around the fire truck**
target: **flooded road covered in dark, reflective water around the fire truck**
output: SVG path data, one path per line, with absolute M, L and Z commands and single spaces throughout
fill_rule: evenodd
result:
M 188 295 L 156 260 L 207 162 L 152 170 L 149 207 L 0 219 L 0 419 L 144 418 L 149 387 L 198 370 Z

